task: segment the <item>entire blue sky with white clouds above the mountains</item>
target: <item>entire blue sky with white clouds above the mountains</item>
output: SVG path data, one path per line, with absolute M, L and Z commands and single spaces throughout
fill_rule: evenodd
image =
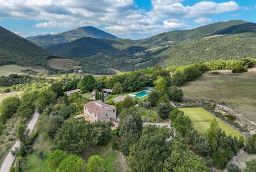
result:
M 0 25 L 22 37 L 92 25 L 143 39 L 219 21 L 256 22 L 256 0 L 0 0 Z

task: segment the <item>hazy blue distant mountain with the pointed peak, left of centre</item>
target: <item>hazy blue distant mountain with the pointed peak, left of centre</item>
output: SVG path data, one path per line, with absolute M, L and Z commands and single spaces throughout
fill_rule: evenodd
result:
M 115 35 L 112 35 L 103 30 L 97 29 L 96 27 L 85 26 L 85 27 L 79 27 L 73 30 L 68 30 L 62 33 L 54 34 L 54 35 L 49 35 L 49 34 L 38 35 L 38 36 L 31 36 L 26 39 L 39 46 L 47 46 L 47 45 L 71 42 L 82 37 L 111 38 L 111 39 L 117 38 Z

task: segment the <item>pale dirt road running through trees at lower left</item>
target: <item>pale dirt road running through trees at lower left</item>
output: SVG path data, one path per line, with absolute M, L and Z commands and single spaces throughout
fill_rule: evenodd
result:
M 40 116 L 40 114 L 38 114 L 38 112 L 35 111 L 34 114 L 33 114 L 32 120 L 28 123 L 28 129 L 30 129 L 32 132 L 33 132 L 33 130 L 35 128 L 36 122 L 39 119 L 39 116 Z M 11 150 L 14 150 L 16 147 L 20 147 L 20 141 L 17 141 L 14 144 L 14 146 L 11 148 Z M 0 169 L 0 172 L 9 172 L 10 171 L 10 168 L 11 168 L 11 166 L 12 166 L 14 160 L 15 160 L 15 157 L 13 157 L 11 155 L 11 150 L 9 151 L 7 156 L 5 157 L 5 159 L 4 159 L 3 163 L 2 163 L 1 169 Z

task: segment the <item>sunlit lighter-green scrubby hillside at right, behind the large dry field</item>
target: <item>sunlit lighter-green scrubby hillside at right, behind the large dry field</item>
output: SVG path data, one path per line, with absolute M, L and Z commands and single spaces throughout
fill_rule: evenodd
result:
M 160 66 L 256 57 L 256 33 L 216 35 L 183 42 L 157 54 Z

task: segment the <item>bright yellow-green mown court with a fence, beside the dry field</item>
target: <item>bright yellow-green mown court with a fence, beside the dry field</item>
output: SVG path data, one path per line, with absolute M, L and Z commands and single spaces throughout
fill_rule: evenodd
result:
M 208 111 L 204 110 L 201 107 L 196 108 L 180 108 L 181 111 L 185 113 L 185 115 L 189 116 L 193 122 L 194 128 L 200 132 L 205 133 L 206 130 L 210 127 L 213 119 L 216 119 L 221 126 L 221 129 L 225 131 L 226 135 L 231 136 L 243 136 L 241 133 L 236 131 L 234 128 L 230 127 Z

